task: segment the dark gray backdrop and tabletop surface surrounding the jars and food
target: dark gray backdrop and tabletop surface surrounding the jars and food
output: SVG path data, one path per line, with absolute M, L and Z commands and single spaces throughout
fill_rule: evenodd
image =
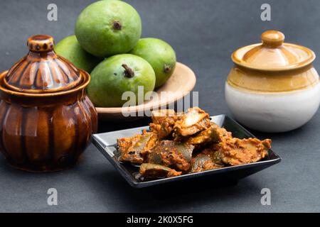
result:
M 28 36 L 53 35 L 56 41 L 73 34 L 78 13 L 91 1 L 1 0 L 0 70 L 26 54 Z M 260 42 L 267 29 L 279 29 L 290 43 L 320 52 L 320 1 L 131 0 L 143 21 L 143 36 L 166 40 L 178 61 L 197 75 L 200 106 L 211 115 L 229 114 L 223 84 L 231 53 Z M 47 21 L 49 3 L 58 5 L 58 21 Z M 270 3 L 272 21 L 260 20 L 260 6 Z M 320 70 L 319 59 L 314 62 Z M 152 190 L 134 190 L 105 157 L 90 145 L 80 165 L 52 174 L 31 174 L 9 167 L 0 157 L 0 211 L 191 211 L 269 212 L 320 211 L 320 115 L 289 133 L 262 134 L 272 138 L 282 162 L 230 187 L 197 187 L 166 198 Z M 100 131 L 146 124 L 100 123 Z M 48 188 L 58 189 L 58 206 L 48 206 Z M 260 190 L 269 188 L 272 205 L 260 204 Z

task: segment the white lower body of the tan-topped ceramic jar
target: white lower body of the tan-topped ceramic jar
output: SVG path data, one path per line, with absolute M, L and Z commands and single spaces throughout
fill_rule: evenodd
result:
M 243 125 L 257 131 L 291 131 L 308 122 L 320 104 L 320 84 L 291 92 L 251 92 L 225 82 L 225 100 Z

